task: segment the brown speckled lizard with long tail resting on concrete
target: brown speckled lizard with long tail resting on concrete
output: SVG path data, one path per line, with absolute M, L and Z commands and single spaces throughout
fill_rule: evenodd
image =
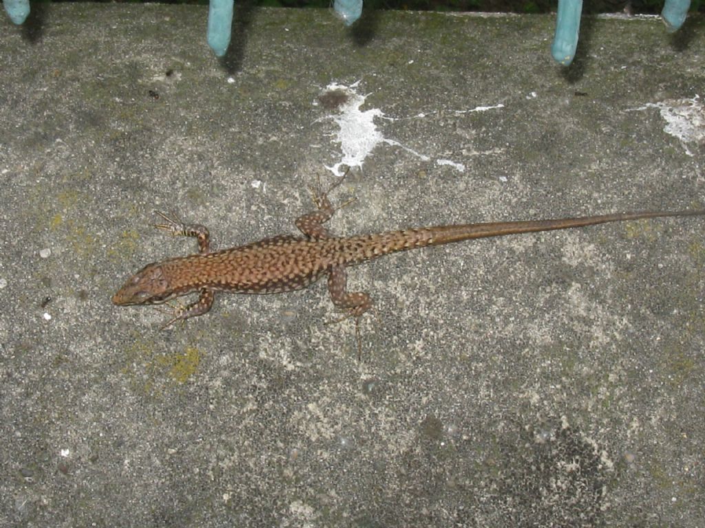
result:
M 327 194 L 314 193 L 314 202 L 318 210 L 296 220 L 296 227 L 305 237 L 280 235 L 213 252 L 210 249 L 209 232 L 205 227 L 187 225 L 173 214 L 169 216 L 158 213 L 166 223 L 155 227 L 174 235 L 195 237 L 199 252 L 145 266 L 118 290 L 113 296 L 113 303 L 118 306 L 161 304 L 198 291 L 200 296 L 194 303 L 172 307 L 173 318 L 164 325 L 167 327 L 178 320 L 207 313 L 216 291 L 278 294 L 305 288 L 321 275 L 327 274 L 333 304 L 358 318 L 372 307 L 372 299 L 366 293 L 350 293 L 346 290 L 345 267 L 388 253 L 468 239 L 563 230 L 606 222 L 705 215 L 705 210 L 647 211 L 558 220 L 420 227 L 341 238 L 331 236 L 324 227 L 324 222 L 335 212 Z

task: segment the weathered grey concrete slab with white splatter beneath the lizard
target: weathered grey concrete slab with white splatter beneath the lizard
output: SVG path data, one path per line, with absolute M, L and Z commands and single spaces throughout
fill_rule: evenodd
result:
M 702 207 L 702 18 L 589 18 L 564 71 L 550 16 L 240 10 L 221 63 L 205 7 L 32 13 L 0 22 L 1 526 L 701 526 L 705 220 L 357 267 L 362 361 L 324 284 L 166 331 L 110 297 L 194 251 L 155 208 L 295 232 L 356 137 L 332 83 L 380 141 L 338 234 Z

